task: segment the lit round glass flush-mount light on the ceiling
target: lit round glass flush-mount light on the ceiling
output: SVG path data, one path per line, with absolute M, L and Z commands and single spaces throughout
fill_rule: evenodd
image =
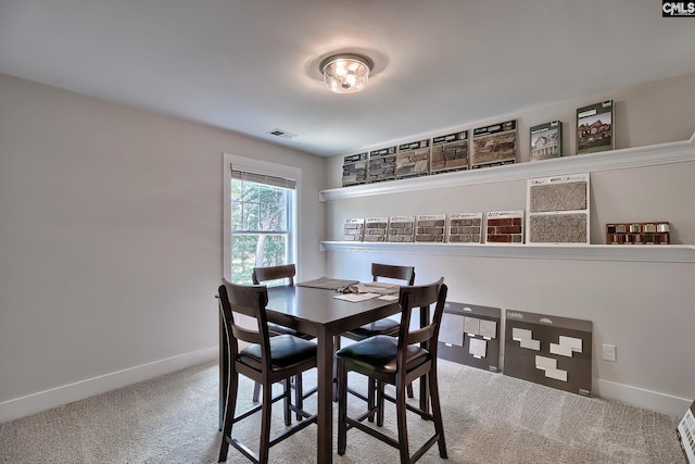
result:
M 318 66 L 324 81 L 336 93 L 354 93 L 364 89 L 374 63 L 359 54 L 334 54 Z

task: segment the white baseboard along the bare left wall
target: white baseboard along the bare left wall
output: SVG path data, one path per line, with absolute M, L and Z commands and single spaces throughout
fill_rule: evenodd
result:
M 214 346 L 3 401 L 0 402 L 0 424 L 213 361 L 218 355 L 219 350 Z

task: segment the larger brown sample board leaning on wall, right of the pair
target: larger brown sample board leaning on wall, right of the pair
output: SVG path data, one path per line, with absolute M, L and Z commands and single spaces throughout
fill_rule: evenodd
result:
M 507 310 L 504 374 L 591 396 L 591 321 Z

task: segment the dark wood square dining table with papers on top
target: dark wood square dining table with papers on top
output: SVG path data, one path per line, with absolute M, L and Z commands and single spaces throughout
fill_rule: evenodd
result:
M 397 301 L 378 298 L 350 302 L 336 299 L 336 291 L 302 286 L 268 288 L 269 322 L 311 334 L 317 341 L 317 442 L 316 462 L 333 462 L 333 338 L 346 330 L 401 312 Z M 228 381 L 228 358 L 220 325 L 219 407 L 220 422 Z

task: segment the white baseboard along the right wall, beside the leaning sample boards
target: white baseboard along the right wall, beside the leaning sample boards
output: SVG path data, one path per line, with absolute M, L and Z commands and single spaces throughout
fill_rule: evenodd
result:
M 619 401 L 649 411 L 682 417 L 693 403 L 693 399 L 678 398 L 658 391 L 645 390 L 629 385 L 598 379 L 595 384 L 595 396 L 606 400 Z

